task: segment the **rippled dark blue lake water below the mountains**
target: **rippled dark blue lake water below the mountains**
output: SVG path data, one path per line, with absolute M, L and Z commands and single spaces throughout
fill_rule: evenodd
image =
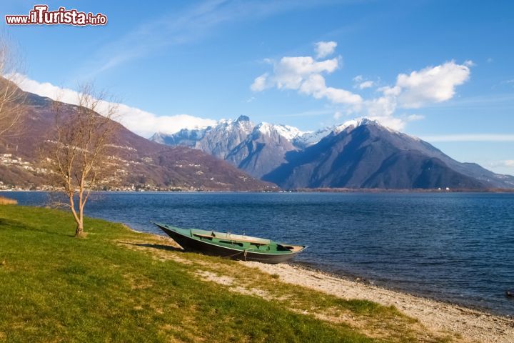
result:
M 43 192 L 5 192 L 43 205 Z M 294 259 L 338 274 L 514 315 L 514 194 L 102 193 L 87 215 L 307 244 Z

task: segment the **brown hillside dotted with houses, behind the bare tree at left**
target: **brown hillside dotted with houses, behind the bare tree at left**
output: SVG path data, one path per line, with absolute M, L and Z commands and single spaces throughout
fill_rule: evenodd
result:
M 39 189 L 49 182 L 48 171 L 39 166 L 47 156 L 44 141 L 54 130 L 53 100 L 26 93 L 23 127 L 0 137 L 0 184 L 4 189 Z M 65 104 L 64 111 L 74 105 Z M 111 177 L 122 189 L 181 189 L 213 191 L 268 191 L 276 185 L 242 172 L 211 154 L 187 146 L 166 146 L 149 141 L 117 124 L 113 149 L 121 165 Z M 211 152 L 211 151 L 209 151 Z M 10 186 L 9 186 L 10 185 Z

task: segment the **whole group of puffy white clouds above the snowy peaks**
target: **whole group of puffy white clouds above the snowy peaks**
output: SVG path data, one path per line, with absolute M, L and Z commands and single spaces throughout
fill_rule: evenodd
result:
M 333 44 L 328 44 L 333 43 Z M 327 56 L 337 46 L 336 42 L 318 42 L 316 54 L 311 56 L 283 57 L 273 62 L 273 73 L 258 76 L 251 84 L 253 91 L 266 88 L 293 89 L 298 93 L 313 96 L 315 99 L 327 99 L 331 104 L 343 108 L 346 114 L 360 114 L 368 119 L 380 121 L 392 129 L 401 130 L 409 121 L 421 120 L 424 116 L 410 114 L 395 116 L 398 108 L 419 108 L 428 104 L 447 101 L 455 96 L 455 87 L 470 77 L 473 61 L 457 64 L 448 61 L 438 66 L 427 66 L 410 74 L 398 74 L 392 86 L 377 89 L 381 96 L 363 99 L 361 95 L 326 85 L 324 74 L 331 74 L 338 69 L 341 57 L 319 60 Z M 329 52 L 328 52 L 329 51 Z M 268 60 L 269 61 L 269 60 Z M 354 89 L 368 89 L 377 86 L 378 81 L 365 79 L 362 75 L 353 77 Z M 338 112 L 343 110 L 341 106 Z M 337 120 L 341 115 L 336 114 Z

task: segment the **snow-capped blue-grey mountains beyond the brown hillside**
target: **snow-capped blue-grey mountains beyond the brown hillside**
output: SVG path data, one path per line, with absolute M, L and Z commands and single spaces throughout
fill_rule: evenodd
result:
M 216 126 L 156 133 L 151 140 L 206 151 L 285 189 L 514 188 L 512 176 L 455 161 L 426 141 L 368 119 L 305 132 L 240 116 Z

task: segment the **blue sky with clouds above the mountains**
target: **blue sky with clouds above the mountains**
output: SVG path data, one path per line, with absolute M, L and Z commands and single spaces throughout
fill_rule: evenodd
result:
M 3 23 L 27 88 L 93 80 L 142 110 L 126 125 L 144 136 L 188 116 L 301 130 L 372 116 L 514 174 L 512 1 L 114 2 L 48 1 L 106 26 Z M 34 4 L 3 1 L 2 17 Z

